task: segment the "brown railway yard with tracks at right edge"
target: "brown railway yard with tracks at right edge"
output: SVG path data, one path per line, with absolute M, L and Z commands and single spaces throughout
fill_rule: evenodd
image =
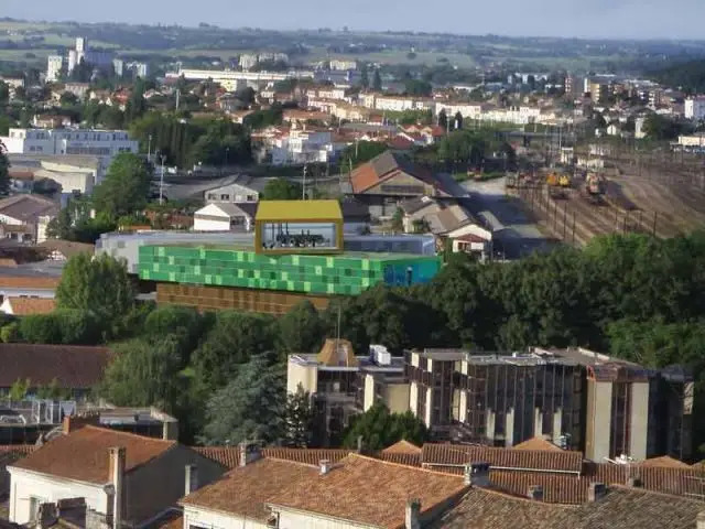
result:
M 558 187 L 545 175 L 507 191 L 521 199 L 547 235 L 575 246 L 600 235 L 646 233 L 666 238 L 705 226 L 702 161 L 669 164 L 615 156 L 605 165 L 599 192 L 588 192 L 582 177 Z

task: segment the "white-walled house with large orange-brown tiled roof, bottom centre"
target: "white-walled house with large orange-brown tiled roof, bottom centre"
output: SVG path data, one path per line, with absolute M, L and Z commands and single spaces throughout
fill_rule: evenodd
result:
M 422 527 L 468 489 L 463 476 L 358 454 L 318 465 L 250 457 L 182 499 L 184 527 Z

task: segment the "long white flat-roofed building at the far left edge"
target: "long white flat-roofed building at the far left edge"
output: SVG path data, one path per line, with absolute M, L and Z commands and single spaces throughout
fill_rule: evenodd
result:
M 10 129 L 0 138 L 10 154 L 80 154 L 97 156 L 98 174 L 104 174 L 120 152 L 139 151 L 139 144 L 124 130 L 100 129 Z M 98 183 L 98 182 L 96 182 Z

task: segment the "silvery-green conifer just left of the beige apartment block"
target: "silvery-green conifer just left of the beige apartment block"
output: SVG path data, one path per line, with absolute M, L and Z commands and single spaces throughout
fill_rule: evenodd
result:
M 206 444 L 280 441 L 285 433 L 284 373 L 271 355 L 252 356 L 206 407 Z

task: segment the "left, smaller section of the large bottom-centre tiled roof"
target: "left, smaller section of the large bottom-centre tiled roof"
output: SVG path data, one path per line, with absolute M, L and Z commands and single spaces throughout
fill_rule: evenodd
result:
M 279 492 L 300 487 L 318 475 L 318 468 L 264 457 L 229 472 L 220 479 L 183 498 L 181 505 L 267 520 L 265 503 Z

